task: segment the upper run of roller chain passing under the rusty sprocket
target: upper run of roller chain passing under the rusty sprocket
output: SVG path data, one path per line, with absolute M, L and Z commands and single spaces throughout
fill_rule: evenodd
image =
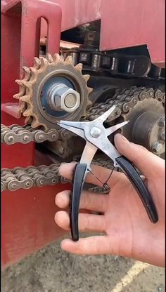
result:
M 129 110 L 136 105 L 139 100 L 146 98 L 155 98 L 165 103 L 165 93 L 162 93 L 160 89 L 145 88 L 145 87 L 132 87 L 129 89 L 117 89 L 115 95 L 112 98 L 108 98 L 106 102 L 100 102 L 94 107 L 91 107 L 85 117 L 86 120 L 92 121 L 101 116 L 110 107 L 116 105 L 115 111 L 108 117 L 107 122 L 113 121 L 120 117 L 122 114 L 127 114 Z M 17 142 L 27 144 L 30 142 L 41 143 L 44 141 L 54 142 L 58 139 L 68 140 L 72 136 L 72 133 L 65 129 L 50 129 L 49 131 L 43 131 L 41 128 L 34 129 L 30 126 L 4 126 L 1 125 L 1 142 L 7 145 L 12 145 Z

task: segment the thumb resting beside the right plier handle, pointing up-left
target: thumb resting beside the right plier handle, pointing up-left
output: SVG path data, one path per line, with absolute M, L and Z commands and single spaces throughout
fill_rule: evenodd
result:
M 115 135 L 115 146 L 122 155 L 132 161 L 136 168 L 139 168 L 139 171 L 141 171 L 146 178 L 156 176 L 154 170 L 157 166 L 163 168 L 164 159 L 157 157 L 141 145 L 129 142 L 120 134 Z

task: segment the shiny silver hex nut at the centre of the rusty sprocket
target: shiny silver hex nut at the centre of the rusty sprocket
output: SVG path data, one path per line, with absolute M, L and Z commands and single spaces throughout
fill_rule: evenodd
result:
M 65 84 L 58 84 L 49 91 L 48 102 L 52 110 L 74 112 L 80 105 L 80 95 Z

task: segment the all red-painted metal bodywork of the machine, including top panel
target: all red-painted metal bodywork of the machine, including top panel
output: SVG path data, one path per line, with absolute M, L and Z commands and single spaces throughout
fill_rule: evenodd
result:
M 5 0 L 2 6 L 2 124 L 23 124 L 13 95 L 15 79 L 22 77 L 22 66 L 31 66 L 39 48 L 39 18 L 48 25 L 47 51 L 56 53 L 61 30 L 101 19 L 101 50 L 147 44 L 151 61 L 165 67 L 165 1 L 160 0 Z M 60 4 L 60 5 L 58 5 Z M 61 22 L 62 10 L 62 22 Z M 41 33 L 46 34 L 45 22 Z M 34 164 L 34 143 L 2 145 L 2 167 Z M 36 156 L 35 164 L 49 164 Z M 63 231 L 53 215 L 54 198 L 63 190 L 56 187 L 33 188 L 1 195 L 1 247 L 3 267 L 56 240 Z

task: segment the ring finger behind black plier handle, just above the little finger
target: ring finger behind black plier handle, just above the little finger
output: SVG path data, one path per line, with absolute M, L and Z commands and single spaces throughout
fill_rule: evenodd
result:
M 56 224 L 64 230 L 70 230 L 70 218 L 68 212 L 58 211 L 55 215 Z M 103 232 L 105 230 L 104 215 L 79 213 L 79 231 Z

